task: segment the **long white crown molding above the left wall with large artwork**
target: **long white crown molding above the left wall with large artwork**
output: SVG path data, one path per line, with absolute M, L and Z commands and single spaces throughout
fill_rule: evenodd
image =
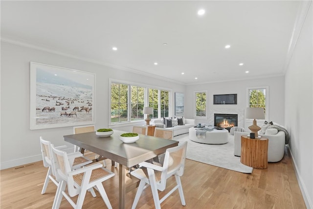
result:
M 81 60 L 81 61 L 85 61 L 85 62 L 89 62 L 89 63 L 93 63 L 93 64 L 105 66 L 105 67 L 110 67 L 110 68 L 114 68 L 114 69 L 118 69 L 118 70 L 124 70 L 124 71 L 127 71 L 127 72 L 133 72 L 133 73 L 136 73 L 136 74 L 141 74 L 141 75 L 153 77 L 153 78 L 156 78 L 156 79 L 169 81 L 171 83 L 176 83 L 176 84 L 179 84 L 179 85 L 186 85 L 185 83 L 183 83 L 181 81 L 172 80 L 172 79 L 169 79 L 167 77 L 150 74 L 150 73 L 147 73 L 147 72 L 144 72 L 144 71 L 140 71 L 140 70 L 135 70 L 135 69 L 132 69 L 132 68 L 127 68 L 127 67 L 122 67 L 122 66 L 118 66 L 118 65 L 113 65 L 113 64 L 110 64 L 110 63 L 104 63 L 104 62 L 97 61 L 97 60 L 94 60 L 94 59 L 88 59 L 88 58 L 84 58 L 84 57 L 75 56 L 75 55 L 72 55 L 72 54 L 69 54 L 69 53 L 64 53 L 64 52 L 59 51 L 59 50 L 50 49 L 50 48 L 45 47 L 45 46 L 38 46 L 38 45 L 34 45 L 34 44 L 29 44 L 29 43 L 26 43 L 26 42 L 17 41 L 17 40 L 5 38 L 5 37 L 1 37 L 1 42 L 8 43 L 8 44 L 13 44 L 13 45 L 17 45 L 17 46 L 23 46 L 23 47 L 26 47 L 26 48 L 37 49 L 37 50 L 40 50 L 40 51 L 45 51 L 45 52 L 52 53 L 52 54 L 57 54 L 57 55 L 61 55 L 61 56 L 65 56 L 65 57 L 69 57 L 69 58 L 73 58 L 73 59 L 78 59 L 78 60 Z

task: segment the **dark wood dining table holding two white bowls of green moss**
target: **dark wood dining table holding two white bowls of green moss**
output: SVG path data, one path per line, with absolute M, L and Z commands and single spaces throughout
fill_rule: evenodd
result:
M 95 132 L 64 136 L 65 141 L 71 144 L 119 163 L 119 209 L 125 208 L 127 168 L 152 159 L 179 143 L 146 135 L 139 135 L 134 143 L 124 143 L 119 139 L 123 133 L 126 132 L 113 130 L 110 137 L 99 137 Z

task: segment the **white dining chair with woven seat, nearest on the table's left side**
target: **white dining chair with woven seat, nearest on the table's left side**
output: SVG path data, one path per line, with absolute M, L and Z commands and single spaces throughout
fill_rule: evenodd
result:
M 115 174 L 104 168 L 101 163 L 91 164 L 83 168 L 72 170 L 66 152 L 52 147 L 52 163 L 55 169 L 56 180 L 59 183 L 53 201 L 53 209 L 59 209 L 64 196 L 74 209 L 81 209 L 85 200 L 86 192 L 90 190 L 95 197 L 93 188 L 101 195 L 109 209 L 112 209 L 108 195 L 103 187 L 103 182 Z M 67 186 L 67 190 L 66 190 Z M 76 203 L 71 197 L 77 196 Z

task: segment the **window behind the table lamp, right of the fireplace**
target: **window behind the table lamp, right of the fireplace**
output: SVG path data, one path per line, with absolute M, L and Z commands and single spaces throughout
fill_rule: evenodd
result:
M 268 87 L 247 88 L 247 107 L 263 107 L 268 119 Z

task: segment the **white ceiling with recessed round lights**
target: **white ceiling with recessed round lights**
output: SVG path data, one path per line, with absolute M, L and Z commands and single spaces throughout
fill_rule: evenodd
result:
M 283 75 L 300 3 L 1 0 L 1 40 L 182 84 Z

